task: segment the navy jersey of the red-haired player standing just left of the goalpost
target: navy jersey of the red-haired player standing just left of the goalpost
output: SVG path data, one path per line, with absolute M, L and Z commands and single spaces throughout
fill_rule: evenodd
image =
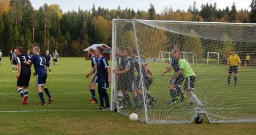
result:
M 109 63 L 107 62 L 104 56 L 98 59 L 97 62 L 97 75 L 99 81 L 107 82 L 109 75 L 107 74 L 107 67 L 109 67 Z

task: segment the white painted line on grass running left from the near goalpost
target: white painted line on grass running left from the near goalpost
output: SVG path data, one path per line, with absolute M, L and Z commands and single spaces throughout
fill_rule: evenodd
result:
M 16 112 L 109 112 L 103 110 L 18 110 L 18 111 L 0 111 L 0 113 L 16 113 Z

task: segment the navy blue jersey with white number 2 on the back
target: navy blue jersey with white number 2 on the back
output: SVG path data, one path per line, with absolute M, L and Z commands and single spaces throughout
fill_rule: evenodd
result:
M 39 55 L 39 54 L 33 55 L 31 56 L 29 61 L 34 64 L 35 73 L 37 73 L 37 75 L 39 73 L 46 73 L 45 58 L 43 58 L 42 55 Z

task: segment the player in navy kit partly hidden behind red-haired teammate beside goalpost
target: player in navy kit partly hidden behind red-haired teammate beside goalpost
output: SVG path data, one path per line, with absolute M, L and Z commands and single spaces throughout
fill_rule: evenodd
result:
M 89 73 L 87 73 L 86 78 L 90 77 L 90 75 L 92 75 L 95 72 L 95 70 L 97 69 L 97 62 L 98 62 L 97 56 L 94 55 L 93 48 L 90 48 L 87 54 L 91 58 L 91 67 L 93 69 L 91 69 L 91 71 Z M 89 99 L 91 101 L 91 104 L 98 103 L 95 89 L 94 89 L 94 85 L 97 84 L 97 79 L 98 79 L 98 76 L 95 76 L 93 79 L 91 79 L 90 84 L 89 84 L 90 92 L 91 92 L 91 95 L 93 96 Z

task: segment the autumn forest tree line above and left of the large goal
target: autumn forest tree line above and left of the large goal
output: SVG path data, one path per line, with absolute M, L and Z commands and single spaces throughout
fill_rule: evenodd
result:
M 171 21 L 206 22 L 256 22 L 256 0 L 252 0 L 251 11 L 237 10 L 235 3 L 225 9 L 217 9 L 217 3 L 206 3 L 197 9 L 197 3 L 185 10 L 166 7 L 162 13 L 130 8 L 106 9 L 92 5 L 90 10 L 66 11 L 59 5 L 43 5 L 34 9 L 29 0 L 0 0 L 0 50 L 7 55 L 15 47 L 31 50 L 33 46 L 42 51 L 58 50 L 61 56 L 83 56 L 82 50 L 94 43 L 111 46 L 111 24 L 113 18 L 156 19 Z

